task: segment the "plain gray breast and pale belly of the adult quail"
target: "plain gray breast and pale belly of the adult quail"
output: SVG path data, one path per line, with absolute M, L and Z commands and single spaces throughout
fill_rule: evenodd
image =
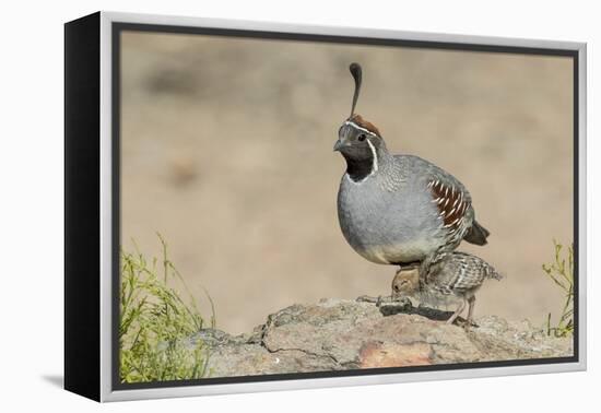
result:
M 427 186 L 412 175 L 393 188 L 386 175 L 369 176 L 363 182 L 344 175 L 338 215 L 347 243 L 376 263 L 422 260 L 445 238 Z

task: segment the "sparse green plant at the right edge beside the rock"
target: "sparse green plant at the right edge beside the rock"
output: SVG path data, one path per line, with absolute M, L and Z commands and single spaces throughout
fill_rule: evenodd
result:
M 564 306 L 557 324 L 551 326 L 551 312 L 546 317 L 546 333 L 555 337 L 566 337 L 574 332 L 574 246 L 567 248 L 564 257 L 564 246 L 553 240 L 555 259 L 543 264 L 544 273 L 565 293 Z

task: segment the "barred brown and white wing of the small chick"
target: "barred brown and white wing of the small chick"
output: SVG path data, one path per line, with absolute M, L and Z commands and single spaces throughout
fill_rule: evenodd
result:
M 426 283 L 438 293 L 475 292 L 486 279 L 503 276 L 486 261 L 466 252 L 440 253 L 429 264 Z

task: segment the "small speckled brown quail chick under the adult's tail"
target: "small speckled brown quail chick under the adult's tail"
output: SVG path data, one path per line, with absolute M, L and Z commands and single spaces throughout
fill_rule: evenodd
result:
M 427 271 L 420 274 L 420 271 Z M 468 326 L 472 323 L 475 305 L 475 293 L 486 279 L 500 280 L 502 275 L 486 261 L 464 252 L 444 252 L 436 256 L 427 268 L 421 266 L 420 271 L 398 271 L 392 280 L 392 297 L 408 295 L 421 299 L 432 299 L 432 295 L 455 295 L 461 298 L 459 307 L 447 320 L 451 324 L 468 309 Z

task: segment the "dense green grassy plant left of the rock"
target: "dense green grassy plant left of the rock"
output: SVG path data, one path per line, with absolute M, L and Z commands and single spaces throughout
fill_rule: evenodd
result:
M 149 262 L 135 253 L 121 251 L 119 319 L 119 375 L 121 382 L 195 379 L 209 375 L 209 354 L 202 341 L 192 345 L 187 338 L 202 329 L 204 319 L 184 279 L 167 257 Z M 162 276 L 161 276 L 162 275 Z M 170 286 L 178 282 L 189 295 L 185 302 Z M 215 326 L 211 297 L 211 327 Z

